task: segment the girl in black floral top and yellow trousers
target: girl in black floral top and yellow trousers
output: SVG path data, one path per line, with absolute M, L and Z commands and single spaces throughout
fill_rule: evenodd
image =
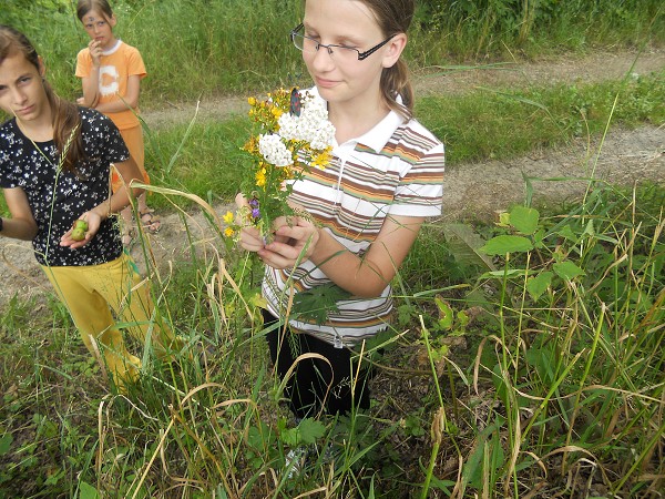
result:
M 141 172 L 113 122 L 59 98 L 44 73 L 30 41 L 0 24 L 0 108 L 13 116 L 0 126 L 0 186 L 11 213 L 0 218 L 0 236 L 32 241 L 85 346 L 101 354 L 124 390 L 141 363 L 125 349 L 114 315 L 144 340 L 152 302 L 111 215 L 141 192 L 129 186 Z M 111 194 L 112 165 L 123 185 Z M 78 220 L 88 225 L 81 241 L 72 230 Z M 171 330 L 156 324 L 153 342 L 161 357 L 172 340 Z

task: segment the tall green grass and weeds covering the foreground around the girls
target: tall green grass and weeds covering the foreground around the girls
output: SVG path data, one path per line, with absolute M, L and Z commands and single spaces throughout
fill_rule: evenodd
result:
M 657 185 L 590 184 L 560 211 L 468 227 L 468 251 L 449 241 L 440 261 L 441 227 L 426 228 L 396 283 L 395 328 L 358 354 L 377 369 L 372 407 L 299 425 L 268 361 L 257 268 L 225 251 L 214 216 L 172 264 L 142 240 L 155 302 L 193 355 L 164 365 L 149 350 L 130 393 L 109 393 L 61 305 L 14 299 L 0 322 L 0 490 L 649 497 L 664 471 L 664 201 Z M 413 265 L 447 277 L 413 279 Z M 288 478 L 299 445 L 309 459 Z

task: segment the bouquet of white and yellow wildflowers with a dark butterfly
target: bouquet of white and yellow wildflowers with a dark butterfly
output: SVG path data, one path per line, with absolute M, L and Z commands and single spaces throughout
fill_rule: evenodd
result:
M 249 205 L 238 208 L 235 216 L 226 213 L 224 234 L 237 237 L 243 226 L 254 226 L 269 242 L 275 218 L 295 214 L 287 202 L 293 181 L 330 162 L 335 126 L 324 101 L 298 89 L 279 89 L 263 101 L 249 98 L 248 103 L 255 132 L 243 146 L 252 166 L 241 192 Z

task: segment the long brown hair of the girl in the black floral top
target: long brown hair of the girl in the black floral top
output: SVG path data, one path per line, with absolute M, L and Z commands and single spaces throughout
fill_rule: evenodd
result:
M 39 55 L 30 40 L 16 29 L 0 24 L 0 64 L 4 59 L 23 54 L 25 60 L 40 71 Z M 81 136 L 81 115 L 73 102 L 58 96 L 48 81 L 42 78 L 47 100 L 51 106 L 51 123 L 53 125 L 53 142 L 63 155 L 62 167 L 65 171 L 76 171 L 76 164 L 84 157 L 83 139 Z

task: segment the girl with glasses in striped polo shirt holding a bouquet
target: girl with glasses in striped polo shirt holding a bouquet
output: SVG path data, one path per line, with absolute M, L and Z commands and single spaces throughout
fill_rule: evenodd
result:
M 413 0 L 306 0 L 291 32 L 314 80 L 309 92 L 336 128 L 334 157 L 293 184 L 290 201 L 309 216 L 278 220 L 269 244 L 244 228 L 241 245 L 266 264 L 264 319 L 266 328 L 280 322 L 267 333 L 279 376 L 299 355 L 316 354 L 286 384 L 299 418 L 369 407 L 358 353 L 390 327 L 390 283 L 426 218 L 441 213 L 443 145 L 412 118 L 401 59 L 412 16 Z M 348 297 L 324 324 L 287 315 L 294 293 L 330 285 Z

